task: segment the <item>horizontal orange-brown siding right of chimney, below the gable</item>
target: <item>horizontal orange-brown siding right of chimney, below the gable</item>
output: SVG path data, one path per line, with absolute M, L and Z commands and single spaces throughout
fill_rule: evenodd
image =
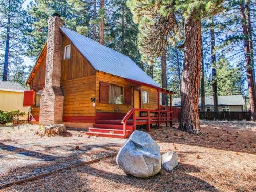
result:
M 63 117 L 95 116 L 95 106 L 91 98 L 95 98 L 96 76 L 91 75 L 61 82 L 64 95 Z

